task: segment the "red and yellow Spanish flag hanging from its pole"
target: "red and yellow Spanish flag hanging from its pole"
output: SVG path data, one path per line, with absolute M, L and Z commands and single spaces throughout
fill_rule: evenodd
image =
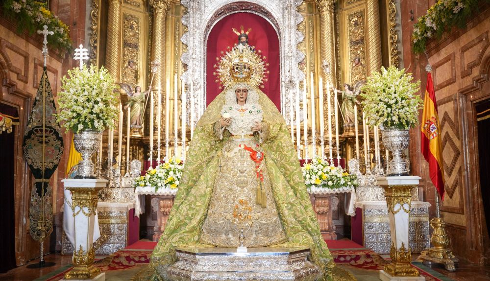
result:
M 444 199 L 444 171 L 442 169 L 441 124 L 437 113 L 436 94 L 432 76 L 427 74 L 427 88 L 425 88 L 424 110 L 420 126 L 422 154 L 429 163 L 429 174 L 432 183 L 436 186 L 441 200 Z

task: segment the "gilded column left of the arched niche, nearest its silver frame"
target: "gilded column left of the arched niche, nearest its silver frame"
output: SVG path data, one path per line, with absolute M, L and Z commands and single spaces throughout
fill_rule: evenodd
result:
M 160 64 L 153 78 L 157 91 L 165 89 L 165 18 L 170 7 L 170 0 L 150 0 L 153 8 L 153 44 L 151 46 L 151 61 Z M 158 101 L 161 102 L 161 101 Z

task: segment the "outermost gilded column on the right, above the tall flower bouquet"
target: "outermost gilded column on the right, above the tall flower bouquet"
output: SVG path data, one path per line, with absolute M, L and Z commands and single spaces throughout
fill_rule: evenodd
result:
M 379 4 L 378 0 L 368 0 L 366 3 L 366 17 L 368 19 L 366 41 L 367 41 L 367 65 L 368 75 L 381 68 L 381 34 L 379 26 Z

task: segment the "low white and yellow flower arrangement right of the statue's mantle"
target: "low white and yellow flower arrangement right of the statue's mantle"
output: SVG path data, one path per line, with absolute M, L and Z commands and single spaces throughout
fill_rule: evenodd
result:
M 326 160 L 314 158 L 302 168 L 308 192 L 323 189 L 342 189 L 357 187 L 357 177 L 345 172 L 342 167 L 329 164 Z

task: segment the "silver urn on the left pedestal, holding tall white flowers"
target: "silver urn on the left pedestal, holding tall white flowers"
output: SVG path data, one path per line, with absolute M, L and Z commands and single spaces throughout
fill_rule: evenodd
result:
M 96 179 L 95 165 L 92 163 L 92 154 L 97 152 L 102 133 L 96 130 L 81 130 L 73 137 L 75 150 L 82 155 L 78 163 L 75 179 Z

